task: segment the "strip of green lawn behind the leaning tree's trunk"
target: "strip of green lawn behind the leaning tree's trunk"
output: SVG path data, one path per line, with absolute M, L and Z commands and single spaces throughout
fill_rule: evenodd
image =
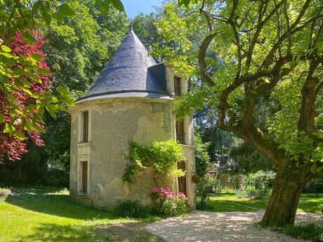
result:
M 210 196 L 209 208 L 213 212 L 253 212 L 266 208 L 268 198 L 238 199 L 235 194 L 213 194 Z M 320 213 L 323 206 L 323 195 L 303 194 L 298 210 L 309 213 Z

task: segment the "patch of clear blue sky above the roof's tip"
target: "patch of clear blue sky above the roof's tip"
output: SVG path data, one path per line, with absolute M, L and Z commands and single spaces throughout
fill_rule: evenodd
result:
M 138 13 L 151 13 L 153 6 L 162 6 L 162 0 L 121 0 L 128 18 L 134 18 Z

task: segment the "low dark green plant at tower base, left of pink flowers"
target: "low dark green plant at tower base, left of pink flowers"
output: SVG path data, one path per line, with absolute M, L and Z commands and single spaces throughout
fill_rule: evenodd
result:
M 121 217 L 144 218 L 149 217 L 152 213 L 149 206 L 143 206 L 138 201 L 131 200 L 121 201 L 116 210 Z

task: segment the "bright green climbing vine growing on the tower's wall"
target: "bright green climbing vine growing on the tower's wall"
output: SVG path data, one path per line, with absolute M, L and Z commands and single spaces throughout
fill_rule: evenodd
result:
M 124 157 L 130 163 L 125 169 L 123 181 L 131 183 L 132 176 L 138 170 L 150 168 L 155 173 L 169 176 L 183 176 L 177 169 L 177 163 L 184 161 L 183 148 L 175 140 L 153 142 L 152 146 L 143 146 L 135 141 L 130 142 L 130 150 Z

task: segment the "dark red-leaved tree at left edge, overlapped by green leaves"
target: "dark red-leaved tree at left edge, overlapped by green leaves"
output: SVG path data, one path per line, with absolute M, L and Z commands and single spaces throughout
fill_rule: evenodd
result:
M 20 159 L 27 152 L 26 140 L 44 145 L 39 134 L 44 132 L 41 125 L 44 124 L 44 109 L 53 116 L 57 109 L 65 109 L 59 104 L 58 98 L 48 93 L 51 81 L 48 67 L 42 60 L 44 53 L 39 50 L 44 43 L 43 36 L 36 32 L 32 34 L 34 44 L 27 44 L 19 31 L 8 46 L 1 46 L 2 60 L 11 66 L 3 69 L 4 79 L 0 88 L 0 160 L 4 156 L 10 160 Z M 58 88 L 58 91 L 61 93 L 60 99 L 65 98 L 65 102 L 70 104 L 65 90 Z

